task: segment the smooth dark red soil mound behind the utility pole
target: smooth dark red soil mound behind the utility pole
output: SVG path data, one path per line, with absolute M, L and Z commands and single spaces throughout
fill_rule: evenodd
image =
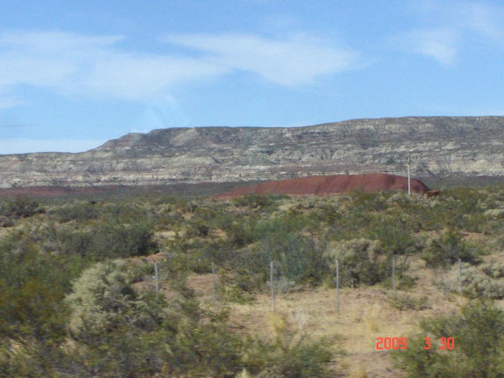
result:
M 263 182 L 258 185 L 240 187 L 215 196 L 219 199 L 239 197 L 246 194 L 288 194 L 288 195 L 327 195 L 344 193 L 354 189 L 365 192 L 387 190 L 408 191 L 408 177 L 386 173 L 340 174 L 334 176 L 308 176 Z M 420 180 L 411 179 L 411 192 L 424 193 L 428 187 Z

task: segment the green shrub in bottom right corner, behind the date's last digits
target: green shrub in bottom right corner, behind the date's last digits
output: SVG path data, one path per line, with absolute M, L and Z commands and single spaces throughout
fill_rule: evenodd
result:
M 394 354 L 408 377 L 504 376 L 504 311 L 492 303 L 470 303 L 460 314 L 429 318 L 420 327 L 420 334 L 408 338 L 408 348 Z M 429 350 L 423 349 L 425 336 L 432 340 Z M 440 337 L 453 337 L 455 348 L 440 351 Z

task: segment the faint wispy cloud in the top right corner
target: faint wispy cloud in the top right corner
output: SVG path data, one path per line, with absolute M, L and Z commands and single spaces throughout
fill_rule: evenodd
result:
M 428 27 L 413 29 L 392 37 L 390 42 L 401 50 L 452 65 L 464 41 L 477 38 L 480 43 L 504 42 L 504 8 L 486 2 L 448 1 L 415 2 L 412 9 Z

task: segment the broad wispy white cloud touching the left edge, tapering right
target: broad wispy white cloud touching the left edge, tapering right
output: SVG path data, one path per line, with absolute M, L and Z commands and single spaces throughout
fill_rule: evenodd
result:
M 130 100 L 152 98 L 181 82 L 226 69 L 190 57 L 128 53 L 120 36 L 29 32 L 0 35 L 0 89 L 28 84 L 62 94 Z

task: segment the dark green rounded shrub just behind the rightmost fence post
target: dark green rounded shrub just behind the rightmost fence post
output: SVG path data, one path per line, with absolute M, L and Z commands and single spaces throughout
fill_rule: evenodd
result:
M 463 262 L 475 264 L 480 261 L 478 254 L 469 249 L 462 240 L 462 235 L 453 230 L 432 240 L 425 248 L 420 257 L 425 260 L 429 267 L 448 267 L 458 259 Z

